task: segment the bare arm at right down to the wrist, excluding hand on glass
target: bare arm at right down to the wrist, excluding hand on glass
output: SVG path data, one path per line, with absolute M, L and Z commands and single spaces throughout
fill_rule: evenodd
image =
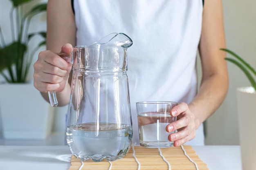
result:
M 202 63 L 202 82 L 198 95 L 189 104 L 195 115 L 195 126 L 210 117 L 220 106 L 228 91 L 225 33 L 222 0 L 205 0 L 199 52 Z

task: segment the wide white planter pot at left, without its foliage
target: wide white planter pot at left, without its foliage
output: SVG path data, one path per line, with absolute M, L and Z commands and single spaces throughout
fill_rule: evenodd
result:
M 0 84 L 0 116 L 5 139 L 45 139 L 53 108 L 33 84 Z

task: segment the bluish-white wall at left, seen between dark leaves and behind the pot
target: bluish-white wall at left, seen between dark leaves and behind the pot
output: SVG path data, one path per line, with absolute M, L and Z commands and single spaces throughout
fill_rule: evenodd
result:
M 47 0 L 33 0 L 32 2 L 28 2 L 24 5 L 24 13 L 25 11 L 31 10 L 34 5 L 39 3 L 47 2 Z M 12 42 L 11 39 L 11 31 L 10 31 L 10 20 L 9 20 L 9 11 L 11 9 L 11 1 L 10 0 L 1 0 L 0 3 L 0 26 L 2 29 L 2 33 L 4 34 L 4 40 L 6 44 L 9 44 Z M 36 15 L 31 20 L 31 24 L 29 27 L 29 32 L 40 32 L 40 31 L 46 31 L 46 13 L 40 13 Z M 41 42 L 43 39 L 40 38 L 40 36 L 36 36 L 29 42 L 29 51 L 32 51 L 36 44 L 38 42 Z M 38 53 L 40 51 L 45 50 L 45 46 L 41 47 L 35 54 L 33 64 L 37 60 Z M 33 81 L 33 73 L 34 68 L 33 64 L 31 65 L 30 72 L 29 72 L 29 80 L 31 82 Z M 4 79 L 0 75 L 0 82 L 3 82 Z M 1 95 L 1 94 L 0 94 Z M 24 96 L 25 97 L 25 96 Z M 65 132 L 65 114 L 67 112 L 67 106 L 61 107 L 61 108 L 55 108 L 55 118 L 54 118 L 54 124 L 53 124 L 53 131 L 58 132 Z M 1 113 L 0 113 L 1 115 Z M 2 130 L 1 125 L 1 117 L 0 117 L 0 131 Z M 1 133 L 0 133 L 1 134 Z

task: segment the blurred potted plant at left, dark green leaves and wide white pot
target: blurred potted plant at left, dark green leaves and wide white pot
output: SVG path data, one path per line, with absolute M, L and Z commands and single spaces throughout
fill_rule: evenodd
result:
M 47 4 L 37 4 L 24 12 L 25 4 L 31 1 L 11 0 L 10 44 L 5 43 L 0 29 L 0 75 L 5 80 L 0 83 L 0 115 L 5 139 L 45 139 L 52 127 L 51 107 L 28 82 L 33 57 L 46 44 L 46 32 L 29 33 L 29 25 L 31 18 L 46 11 Z M 29 53 L 28 43 L 36 35 L 43 40 Z

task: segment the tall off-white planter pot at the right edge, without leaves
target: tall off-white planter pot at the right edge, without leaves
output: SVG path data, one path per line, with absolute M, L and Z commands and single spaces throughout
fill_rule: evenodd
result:
M 243 170 L 256 170 L 256 92 L 252 87 L 238 88 L 237 106 Z

